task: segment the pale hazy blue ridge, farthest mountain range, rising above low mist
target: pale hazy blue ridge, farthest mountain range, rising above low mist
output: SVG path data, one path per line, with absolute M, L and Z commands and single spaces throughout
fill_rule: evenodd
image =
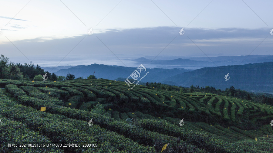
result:
M 149 59 L 147 59 L 149 58 Z M 155 57 L 138 58 L 133 61 L 145 63 L 149 67 L 158 68 L 185 68 L 200 69 L 203 67 L 216 67 L 227 65 L 243 65 L 249 63 L 273 62 L 273 55 L 249 55 L 249 56 L 218 56 L 218 57 Z M 175 59 L 174 59 L 175 58 Z

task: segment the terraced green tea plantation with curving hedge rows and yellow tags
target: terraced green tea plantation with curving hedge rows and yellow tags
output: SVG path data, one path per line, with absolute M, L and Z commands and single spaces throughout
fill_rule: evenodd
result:
M 1 152 L 273 152 L 273 106 L 246 99 L 104 79 L 0 87 Z M 8 147 L 21 142 L 98 145 Z

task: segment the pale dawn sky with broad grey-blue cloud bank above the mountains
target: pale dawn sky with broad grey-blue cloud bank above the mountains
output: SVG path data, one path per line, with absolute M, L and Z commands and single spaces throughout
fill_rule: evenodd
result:
M 0 54 L 40 66 L 132 67 L 145 56 L 273 55 L 271 3 L 2 1 Z

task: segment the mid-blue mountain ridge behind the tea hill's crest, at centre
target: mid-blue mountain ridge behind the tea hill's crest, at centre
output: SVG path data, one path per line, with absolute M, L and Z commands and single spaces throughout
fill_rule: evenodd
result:
M 76 67 L 71 67 L 68 69 L 61 69 L 56 73 L 56 75 L 59 76 L 66 76 L 67 73 L 72 73 L 75 75 L 76 78 L 83 77 L 87 78 L 89 75 L 93 75 L 94 71 L 95 76 L 97 78 L 103 78 L 103 79 L 109 79 L 109 80 L 115 80 L 117 78 L 127 78 L 130 76 L 131 73 L 133 73 L 134 70 L 136 70 L 137 67 L 122 67 L 122 66 L 109 66 L 109 65 L 103 65 L 103 64 L 91 64 L 91 65 L 79 65 Z M 160 82 L 163 79 L 166 79 L 167 77 L 174 76 L 180 73 L 184 73 L 191 70 L 186 69 L 158 69 L 158 68 L 146 68 L 147 73 L 149 71 L 149 74 L 142 80 L 145 82 Z M 141 77 L 144 74 L 140 74 Z M 129 77 L 130 79 L 131 77 Z

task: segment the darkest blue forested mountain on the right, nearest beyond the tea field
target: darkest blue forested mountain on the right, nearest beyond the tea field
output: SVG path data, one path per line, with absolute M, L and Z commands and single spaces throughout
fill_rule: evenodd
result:
M 224 77 L 229 73 L 230 79 Z M 225 90 L 230 86 L 247 91 L 273 91 L 273 62 L 245 65 L 204 67 L 184 72 L 162 81 L 162 83 L 191 86 L 213 86 Z

